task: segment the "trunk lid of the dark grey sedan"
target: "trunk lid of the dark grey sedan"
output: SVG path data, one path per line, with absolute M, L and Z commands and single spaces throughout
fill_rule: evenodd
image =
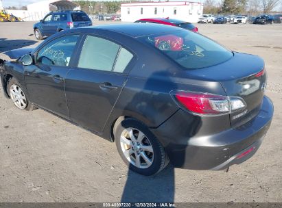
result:
M 263 60 L 256 55 L 234 53 L 227 62 L 189 70 L 196 79 L 219 81 L 228 96 L 239 96 L 246 102 L 246 108 L 230 115 L 231 127 L 239 127 L 254 118 L 261 107 L 266 88 L 266 73 Z

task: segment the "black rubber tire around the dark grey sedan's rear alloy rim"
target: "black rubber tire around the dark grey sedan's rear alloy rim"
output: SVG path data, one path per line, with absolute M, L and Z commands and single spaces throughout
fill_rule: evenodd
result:
M 126 159 L 126 156 L 121 149 L 121 133 L 128 128 L 138 129 L 139 131 L 142 131 L 142 133 L 144 133 L 145 135 L 145 138 L 150 141 L 150 144 L 152 145 L 154 151 L 154 159 L 152 161 L 152 165 L 148 168 L 137 168 L 137 166 L 134 166 L 132 163 L 130 163 L 130 161 L 128 161 L 128 159 Z M 150 176 L 160 172 L 161 170 L 163 170 L 163 168 L 165 168 L 165 166 L 167 166 L 167 164 L 169 164 L 169 159 L 167 157 L 167 154 L 165 153 L 165 149 L 163 148 L 161 143 L 158 142 L 154 134 L 142 122 L 139 122 L 134 118 L 126 118 L 115 126 L 114 135 L 117 151 L 119 152 L 119 155 L 124 160 L 126 165 L 130 168 L 130 170 L 133 170 L 134 172 L 143 174 L 145 176 Z

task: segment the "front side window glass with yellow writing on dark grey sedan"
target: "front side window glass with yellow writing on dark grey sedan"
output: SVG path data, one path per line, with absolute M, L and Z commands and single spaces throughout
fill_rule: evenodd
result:
M 36 56 L 36 64 L 49 66 L 69 66 L 71 55 L 78 42 L 78 35 L 63 36 L 53 40 L 40 49 Z

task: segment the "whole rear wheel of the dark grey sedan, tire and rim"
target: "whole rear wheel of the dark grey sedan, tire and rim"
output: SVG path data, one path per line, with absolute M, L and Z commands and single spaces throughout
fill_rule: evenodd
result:
M 156 174 L 169 163 L 161 143 L 148 127 L 133 118 L 115 127 L 115 144 L 126 165 L 139 174 Z

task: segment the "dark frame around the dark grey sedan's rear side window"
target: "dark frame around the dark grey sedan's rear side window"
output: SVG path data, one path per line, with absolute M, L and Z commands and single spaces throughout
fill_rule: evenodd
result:
M 78 62 L 80 60 L 80 55 L 82 53 L 82 49 L 83 49 L 83 46 L 84 46 L 84 42 L 87 38 L 87 36 L 93 36 L 93 37 L 97 37 L 97 38 L 103 38 L 105 40 L 108 40 L 108 41 L 111 41 L 111 42 L 114 42 L 115 44 L 118 44 L 119 45 L 119 51 L 115 57 L 115 62 L 113 64 L 113 68 L 112 70 L 110 71 L 106 71 L 106 70 L 98 70 L 98 69 L 91 69 L 91 68 L 82 68 L 82 67 L 79 67 L 78 66 Z M 132 59 L 130 60 L 130 62 L 128 63 L 128 65 L 126 66 L 126 68 L 124 69 L 124 72 L 122 73 L 119 73 L 119 72 L 115 72 L 113 71 L 113 69 L 115 68 L 115 63 L 117 62 L 117 58 L 119 57 L 119 52 L 121 51 L 121 48 L 124 48 L 126 49 L 127 51 L 129 51 L 133 57 Z M 93 34 L 93 33 L 86 33 L 86 34 L 83 34 L 82 38 L 81 38 L 81 41 L 80 41 L 80 46 L 78 47 L 77 49 L 77 53 L 75 53 L 75 60 L 73 60 L 73 66 L 72 68 L 75 68 L 76 70 L 92 70 L 92 71 L 95 71 L 95 72 L 104 72 L 104 73 L 115 73 L 117 75 L 128 75 L 131 71 L 131 69 L 134 67 L 134 65 L 136 64 L 137 60 L 138 60 L 138 57 L 137 57 L 137 54 L 134 53 L 131 49 L 128 49 L 128 47 L 125 47 L 124 44 L 122 44 L 121 42 L 118 42 L 117 40 L 113 40 L 113 38 L 108 38 L 107 36 L 103 36 L 101 34 Z

